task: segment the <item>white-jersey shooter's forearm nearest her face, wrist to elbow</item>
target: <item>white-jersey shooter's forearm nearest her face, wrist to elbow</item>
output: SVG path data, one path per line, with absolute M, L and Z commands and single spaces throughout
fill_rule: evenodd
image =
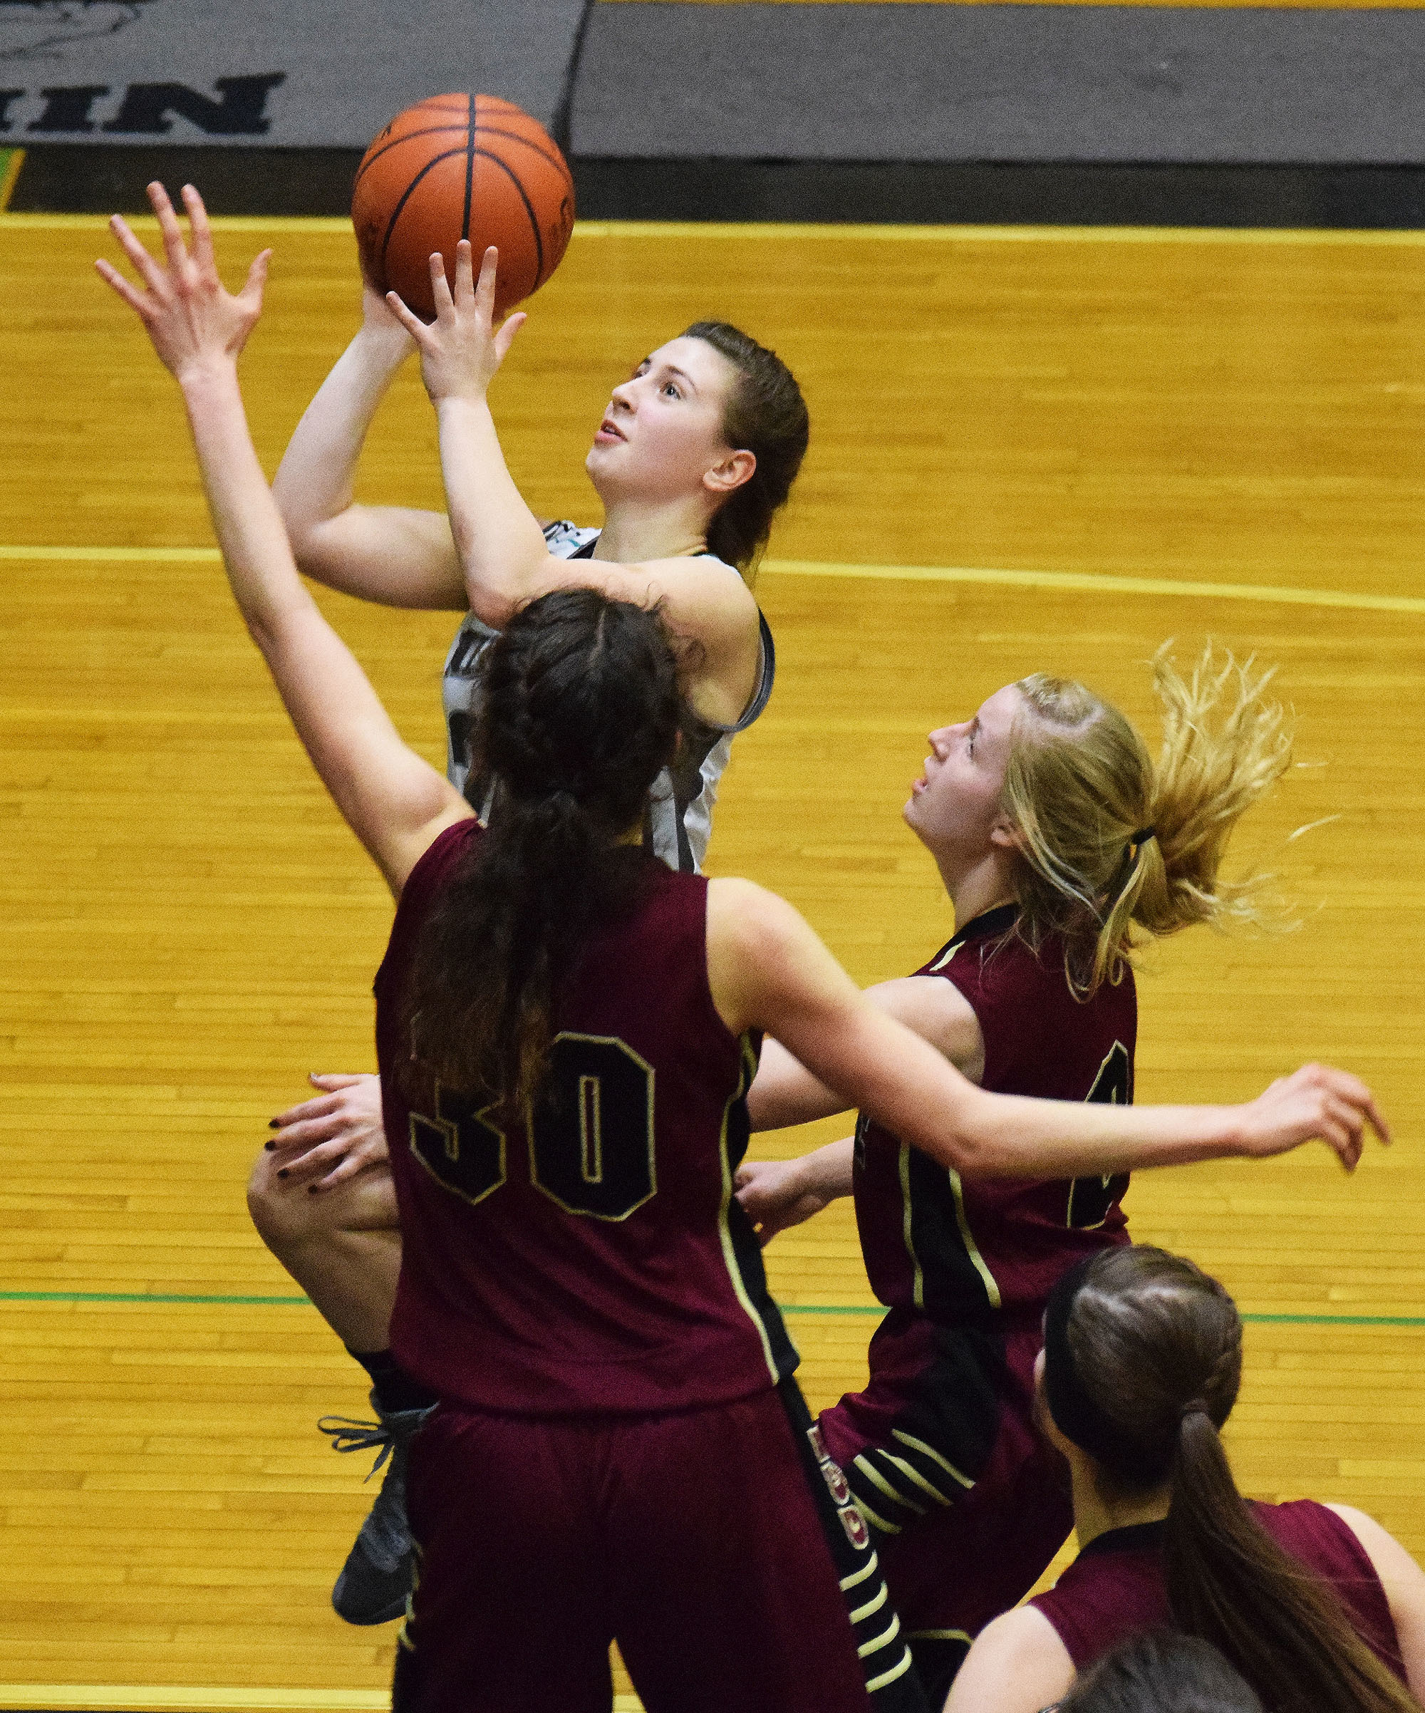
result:
M 471 612 L 498 629 L 536 591 L 550 550 L 505 466 L 486 401 L 442 399 L 437 421 L 445 505 Z

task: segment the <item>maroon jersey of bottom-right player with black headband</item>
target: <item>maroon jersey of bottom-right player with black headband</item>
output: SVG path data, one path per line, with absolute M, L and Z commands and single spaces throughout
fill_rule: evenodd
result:
M 1252 1501 L 1252 1513 L 1283 1552 L 1331 1586 L 1360 1639 L 1404 1682 L 1386 1590 L 1350 1525 L 1314 1499 Z M 1088 1670 L 1127 1636 L 1172 1626 L 1163 1525 L 1139 1523 L 1091 1540 L 1058 1583 L 1046 1595 L 1034 1595 L 1029 1605 L 1053 1624 L 1076 1672 Z

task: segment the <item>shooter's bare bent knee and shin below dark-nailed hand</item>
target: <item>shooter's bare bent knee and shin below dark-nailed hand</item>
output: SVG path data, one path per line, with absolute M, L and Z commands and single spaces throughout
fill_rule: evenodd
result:
M 348 1350 L 385 1350 L 401 1273 L 401 1225 L 391 1168 L 368 1167 L 324 1191 L 289 1185 L 265 1149 L 247 1185 L 257 1235 L 317 1305 Z

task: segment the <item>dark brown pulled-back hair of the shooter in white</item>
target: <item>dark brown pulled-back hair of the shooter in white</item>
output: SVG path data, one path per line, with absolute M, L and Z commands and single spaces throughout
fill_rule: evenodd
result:
M 812 427 L 807 404 L 796 377 L 776 351 L 738 327 L 694 322 L 680 337 L 711 344 L 738 373 L 723 406 L 723 439 L 736 452 L 752 452 L 757 468 L 714 512 L 707 552 L 750 574 L 807 454 Z

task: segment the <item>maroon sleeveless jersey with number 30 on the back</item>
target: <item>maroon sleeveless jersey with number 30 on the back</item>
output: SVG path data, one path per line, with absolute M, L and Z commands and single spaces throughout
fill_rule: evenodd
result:
M 404 1237 L 391 1346 L 435 1391 L 529 1415 L 724 1403 L 796 1365 L 733 1199 L 757 1040 L 707 988 L 707 882 L 647 858 L 637 915 L 555 1002 L 529 1124 L 401 1067 L 421 923 L 478 860 L 464 821 L 420 860 L 377 973 L 377 1053 Z

